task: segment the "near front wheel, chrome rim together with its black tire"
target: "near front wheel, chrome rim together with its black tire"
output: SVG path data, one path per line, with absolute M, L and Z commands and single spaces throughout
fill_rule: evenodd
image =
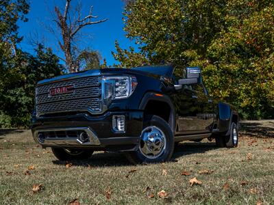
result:
M 127 153 L 127 159 L 134 164 L 169 161 L 174 150 L 174 137 L 169 124 L 157 115 L 146 116 L 146 119 L 138 150 Z

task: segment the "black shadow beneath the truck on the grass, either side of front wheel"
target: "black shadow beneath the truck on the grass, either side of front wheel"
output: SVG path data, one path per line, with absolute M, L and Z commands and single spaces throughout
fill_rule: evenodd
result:
M 174 150 L 173 157 L 171 162 L 177 162 L 177 159 L 181 156 L 188 155 L 188 154 L 197 154 L 197 153 L 204 153 L 209 150 L 216 149 L 214 142 L 186 142 L 186 143 L 179 143 Z M 68 161 L 53 161 L 55 165 L 66 165 Z M 127 161 L 125 154 L 119 152 L 95 152 L 92 154 L 92 157 L 88 160 L 83 161 L 69 161 L 69 163 L 73 163 L 76 166 L 83 166 L 83 167 L 120 167 L 120 166 L 130 166 L 132 165 Z

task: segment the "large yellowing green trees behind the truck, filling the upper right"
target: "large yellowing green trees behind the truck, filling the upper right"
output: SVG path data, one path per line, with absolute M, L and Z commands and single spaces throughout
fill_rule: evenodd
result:
M 201 66 L 213 97 L 242 118 L 274 118 L 274 8 L 263 0 L 137 0 L 125 7 L 125 31 L 140 51 L 121 49 L 119 66 Z

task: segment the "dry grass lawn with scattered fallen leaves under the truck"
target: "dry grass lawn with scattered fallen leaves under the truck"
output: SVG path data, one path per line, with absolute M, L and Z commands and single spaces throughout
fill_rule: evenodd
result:
M 274 120 L 242 122 L 238 148 L 186 141 L 172 162 L 138 166 L 103 152 L 71 165 L 30 131 L 0 130 L 0 160 L 0 204 L 274 204 Z

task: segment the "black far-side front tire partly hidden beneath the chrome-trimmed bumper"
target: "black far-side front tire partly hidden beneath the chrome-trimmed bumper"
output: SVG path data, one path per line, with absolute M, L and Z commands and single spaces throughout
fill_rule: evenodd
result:
M 77 150 L 64 148 L 51 148 L 54 156 L 60 161 L 84 160 L 89 159 L 93 150 Z

